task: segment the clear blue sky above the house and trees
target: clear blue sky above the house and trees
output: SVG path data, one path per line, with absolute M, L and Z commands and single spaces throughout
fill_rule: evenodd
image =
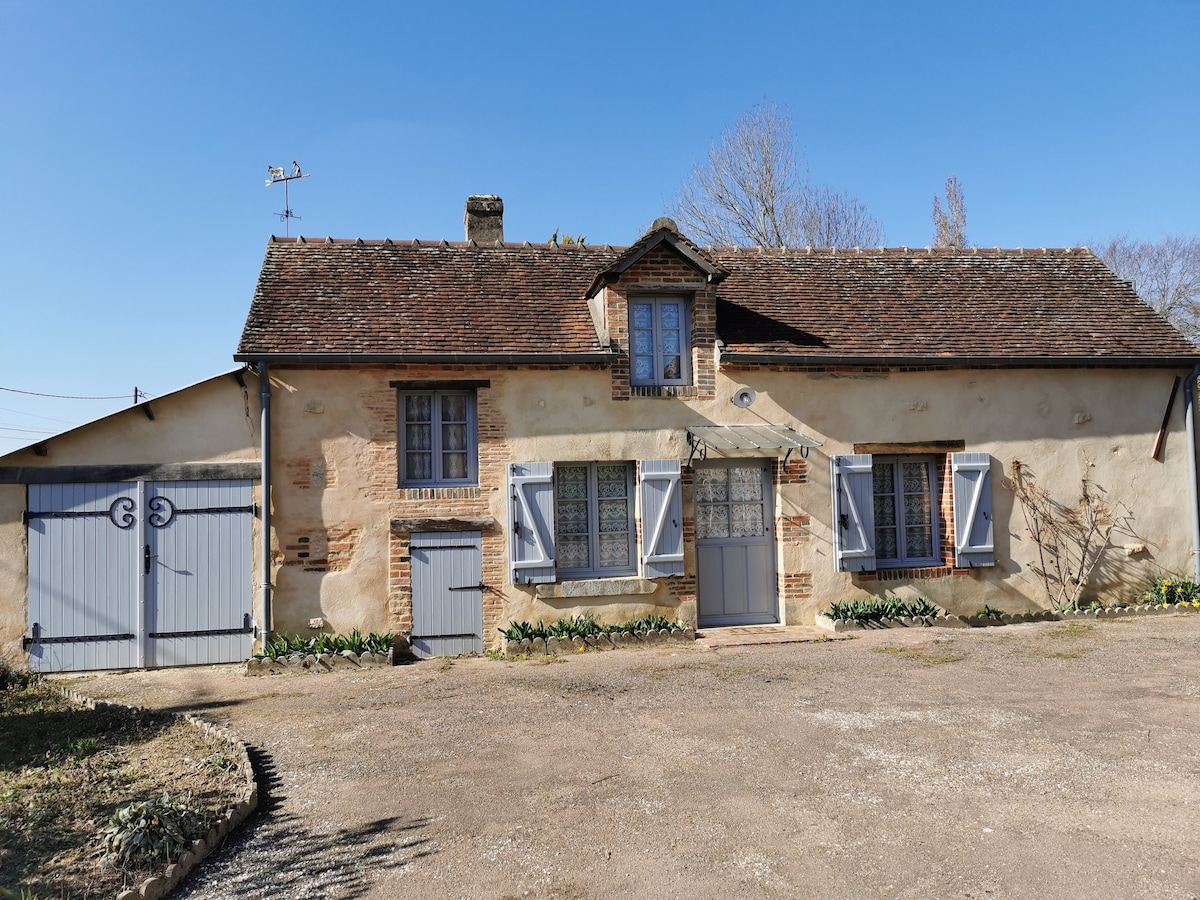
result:
M 629 244 L 764 100 L 893 246 L 952 173 L 984 246 L 1200 232 L 1200 0 L 0 0 L 0 386 L 232 368 L 268 164 L 293 235 Z M 121 406 L 0 391 L 0 452 Z

